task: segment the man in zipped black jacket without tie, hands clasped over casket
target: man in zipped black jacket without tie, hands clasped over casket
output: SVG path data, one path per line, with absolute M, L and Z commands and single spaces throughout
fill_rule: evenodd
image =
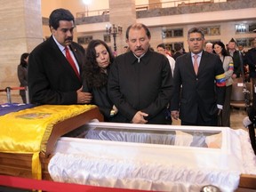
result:
M 149 49 L 151 35 L 144 24 L 132 24 L 125 36 L 131 51 L 116 57 L 108 76 L 108 96 L 118 108 L 116 122 L 165 124 L 172 97 L 170 63 Z

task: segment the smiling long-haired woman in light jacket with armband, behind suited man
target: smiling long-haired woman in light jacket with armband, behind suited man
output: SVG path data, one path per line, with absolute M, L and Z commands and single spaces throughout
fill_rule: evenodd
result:
M 232 75 L 234 72 L 233 59 L 228 54 L 227 50 L 225 49 L 225 44 L 222 42 L 216 42 L 213 44 L 213 52 L 220 56 L 220 60 L 222 61 L 225 71 L 226 80 L 225 100 L 220 116 L 219 125 L 230 127 L 230 100 L 233 84 Z

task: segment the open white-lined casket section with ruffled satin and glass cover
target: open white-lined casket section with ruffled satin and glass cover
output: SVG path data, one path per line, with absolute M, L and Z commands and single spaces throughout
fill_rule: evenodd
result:
M 256 188 L 248 132 L 228 127 L 86 124 L 84 139 L 58 140 L 52 180 L 155 191 Z

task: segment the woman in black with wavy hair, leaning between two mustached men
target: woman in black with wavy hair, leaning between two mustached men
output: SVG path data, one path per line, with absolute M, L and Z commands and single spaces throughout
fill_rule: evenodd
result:
M 101 40 L 92 40 L 86 49 L 83 68 L 83 92 L 92 93 L 92 104 L 100 108 L 106 122 L 113 121 L 117 108 L 108 98 L 108 73 L 114 55 L 108 45 Z

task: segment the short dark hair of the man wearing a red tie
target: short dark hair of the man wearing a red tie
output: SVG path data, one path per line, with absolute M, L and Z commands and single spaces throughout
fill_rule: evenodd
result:
M 66 9 L 56 9 L 54 10 L 49 17 L 49 27 L 57 29 L 60 26 L 60 20 L 73 20 L 74 24 L 75 24 L 75 18 L 72 15 L 71 12 L 69 12 Z

